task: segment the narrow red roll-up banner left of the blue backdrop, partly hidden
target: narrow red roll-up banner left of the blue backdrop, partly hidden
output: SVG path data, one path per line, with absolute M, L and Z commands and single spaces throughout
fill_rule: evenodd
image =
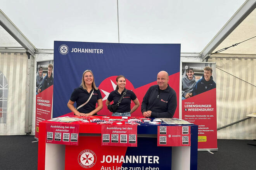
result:
M 35 138 L 38 138 L 39 122 L 52 117 L 53 80 L 53 60 L 36 62 Z

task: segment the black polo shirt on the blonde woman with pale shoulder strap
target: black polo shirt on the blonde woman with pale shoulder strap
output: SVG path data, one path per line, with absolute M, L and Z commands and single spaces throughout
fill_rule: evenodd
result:
M 83 89 L 83 87 L 78 87 L 74 89 L 74 92 L 71 94 L 70 100 L 72 102 L 76 102 L 76 107 L 79 107 L 80 105 L 84 104 L 90 97 L 92 93 L 92 90 L 90 93 L 87 92 L 87 90 Z M 90 113 L 92 110 L 95 109 L 97 100 L 102 99 L 100 89 L 93 91 L 93 95 L 91 99 L 89 100 L 86 105 L 79 108 L 78 111 L 81 113 Z

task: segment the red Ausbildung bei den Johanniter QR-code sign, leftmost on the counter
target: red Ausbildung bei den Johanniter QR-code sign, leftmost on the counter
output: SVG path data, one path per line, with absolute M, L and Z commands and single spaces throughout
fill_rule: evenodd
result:
M 46 143 L 78 145 L 79 124 L 46 124 Z

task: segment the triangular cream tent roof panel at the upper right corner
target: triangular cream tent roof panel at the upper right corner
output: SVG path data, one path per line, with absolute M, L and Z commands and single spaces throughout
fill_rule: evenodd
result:
M 239 26 L 235 28 L 231 34 L 221 44 L 214 49 L 218 51 L 220 49 L 232 46 L 235 43 L 242 42 L 246 39 L 256 36 L 256 9 L 249 14 L 246 19 L 242 21 Z M 225 54 L 256 54 L 256 37 L 248 41 L 242 42 L 237 46 L 228 48 L 221 53 Z

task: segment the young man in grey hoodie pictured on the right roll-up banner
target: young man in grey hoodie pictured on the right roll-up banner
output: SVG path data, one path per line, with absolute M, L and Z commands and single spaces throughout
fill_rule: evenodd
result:
M 186 75 L 182 77 L 182 100 L 192 97 L 192 90 L 195 83 L 193 68 L 186 69 Z

